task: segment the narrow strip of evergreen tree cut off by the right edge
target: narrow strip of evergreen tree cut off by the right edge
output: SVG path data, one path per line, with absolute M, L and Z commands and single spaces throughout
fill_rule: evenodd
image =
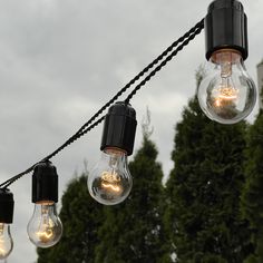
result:
M 263 110 L 250 127 L 247 136 L 246 184 L 242 196 L 242 208 L 251 223 L 255 252 L 247 263 L 263 262 Z

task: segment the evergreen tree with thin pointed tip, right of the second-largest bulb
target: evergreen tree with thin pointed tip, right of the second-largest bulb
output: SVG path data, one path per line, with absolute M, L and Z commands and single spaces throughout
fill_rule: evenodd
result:
M 105 208 L 107 220 L 99 231 L 96 263 L 160 262 L 163 173 L 149 134 L 146 128 L 143 146 L 129 163 L 134 178 L 130 195 Z

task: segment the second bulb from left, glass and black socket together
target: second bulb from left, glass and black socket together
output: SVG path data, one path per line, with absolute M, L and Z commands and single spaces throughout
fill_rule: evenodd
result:
M 28 223 L 29 240 L 38 247 L 57 244 L 62 235 L 62 223 L 57 215 L 58 174 L 50 162 L 36 165 L 32 175 L 33 215 Z

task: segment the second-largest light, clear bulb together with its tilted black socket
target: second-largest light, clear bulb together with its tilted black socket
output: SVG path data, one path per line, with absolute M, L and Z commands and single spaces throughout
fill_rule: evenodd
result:
M 89 194 L 100 204 L 119 204 L 132 189 L 127 156 L 133 154 L 136 125 L 135 109 L 123 101 L 113 105 L 105 117 L 101 158 L 88 176 Z

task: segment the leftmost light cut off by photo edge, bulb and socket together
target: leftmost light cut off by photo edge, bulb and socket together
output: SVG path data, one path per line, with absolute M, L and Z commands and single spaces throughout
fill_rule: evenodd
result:
M 7 188 L 0 188 L 0 260 L 9 256 L 13 249 L 10 224 L 13 217 L 13 195 Z

